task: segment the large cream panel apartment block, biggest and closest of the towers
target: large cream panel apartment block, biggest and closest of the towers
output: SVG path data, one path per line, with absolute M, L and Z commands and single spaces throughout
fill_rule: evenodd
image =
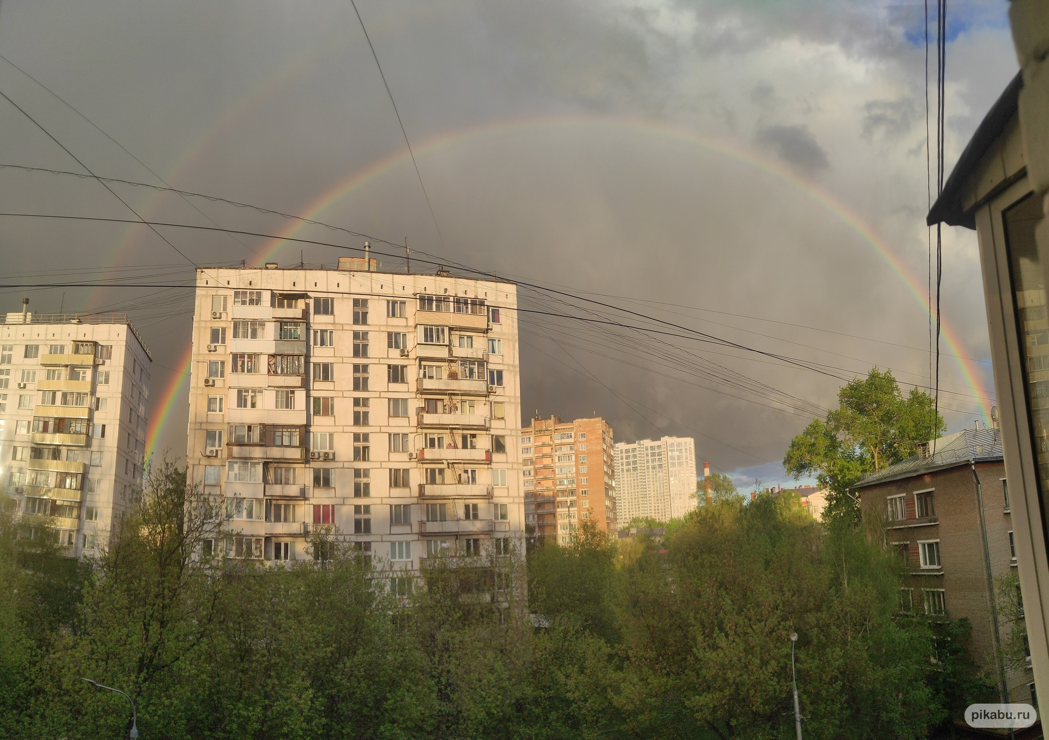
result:
M 339 268 L 197 272 L 187 460 L 233 532 L 208 547 L 308 558 L 334 526 L 393 571 L 515 549 L 516 287 Z

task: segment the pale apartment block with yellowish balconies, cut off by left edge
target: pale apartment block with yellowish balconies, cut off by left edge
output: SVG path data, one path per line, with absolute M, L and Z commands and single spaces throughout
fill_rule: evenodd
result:
M 152 359 L 123 314 L 0 324 L 0 485 L 20 535 L 72 556 L 106 544 L 142 485 Z

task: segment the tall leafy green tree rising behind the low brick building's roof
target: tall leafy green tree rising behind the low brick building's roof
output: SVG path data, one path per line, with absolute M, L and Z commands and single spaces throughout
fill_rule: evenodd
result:
M 856 524 L 859 507 L 849 488 L 915 454 L 944 428 L 932 396 L 918 388 L 904 396 L 892 371 L 874 367 L 838 392 L 838 407 L 826 419 L 791 441 L 784 467 L 795 480 L 815 474 L 830 491 L 825 519 Z

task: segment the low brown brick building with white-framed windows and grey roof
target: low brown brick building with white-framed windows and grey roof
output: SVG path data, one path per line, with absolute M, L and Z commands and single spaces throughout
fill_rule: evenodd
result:
M 884 529 L 886 545 L 908 566 L 901 610 L 967 617 L 973 656 L 1000 682 L 996 642 L 1007 628 L 992 600 L 991 583 L 1016 567 L 1001 432 L 965 429 L 934 440 L 853 490 L 864 520 Z M 1012 700 L 1032 697 L 1029 668 L 1005 674 Z

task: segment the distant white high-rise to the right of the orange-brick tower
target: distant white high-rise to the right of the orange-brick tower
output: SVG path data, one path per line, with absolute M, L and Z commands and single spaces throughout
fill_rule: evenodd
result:
M 695 443 L 687 437 L 617 442 L 619 523 L 635 517 L 667 522 L 683 516 L 695 500 Z

